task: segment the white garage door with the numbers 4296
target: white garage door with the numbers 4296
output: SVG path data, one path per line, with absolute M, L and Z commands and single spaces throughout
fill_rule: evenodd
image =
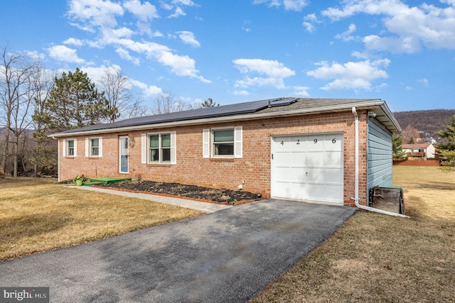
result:
M 272 197 L 343 202 L 343 133 L 272 137 Z

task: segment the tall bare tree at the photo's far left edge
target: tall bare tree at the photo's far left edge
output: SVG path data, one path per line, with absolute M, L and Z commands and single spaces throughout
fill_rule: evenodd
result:
M 5 142 L 1 150 L 0 174 L 4 175 L 9 158 L 9 143 L 13 145 L 14 176 L 17 176 L 19 138 L 31 123 L 30 109 L 33 101 L 33 78 L 39 71 L 36 62 L 31 62 L 21 53 L 10 53 L 1 48 L 0 65 L 0 115 L 5 130 Z M 12 135 L 12 136 L 11 136 Z

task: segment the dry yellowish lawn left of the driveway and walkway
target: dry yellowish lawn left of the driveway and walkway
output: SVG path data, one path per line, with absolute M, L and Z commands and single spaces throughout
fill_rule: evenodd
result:
M 97 241 L 203 214 L 65 187 L 43 178 L 0 179 L 0 260 Z

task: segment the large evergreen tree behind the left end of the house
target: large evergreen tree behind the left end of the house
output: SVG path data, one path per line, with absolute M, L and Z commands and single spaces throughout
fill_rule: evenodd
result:
M 55 77 L 49 98 L 33 119 L 47 123 L 47 129 L 65 131 L 107 121 L 111 115 L 104 92 L 98 92 L 87 74 L 77 68 L 74 73 L 63 72 L 60 78 Z

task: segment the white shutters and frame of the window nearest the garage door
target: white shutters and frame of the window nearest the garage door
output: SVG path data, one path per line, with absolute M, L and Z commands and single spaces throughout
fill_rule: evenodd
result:
M 215 136 L 214 131 L 234 131 L 233 154 L 232 155 L 215 155 Z M 243 157 L 242 148 L 242 126 L 227 126 L 210 129 L 203 129 L 203 158 L 222 158 L 233 159 Z

